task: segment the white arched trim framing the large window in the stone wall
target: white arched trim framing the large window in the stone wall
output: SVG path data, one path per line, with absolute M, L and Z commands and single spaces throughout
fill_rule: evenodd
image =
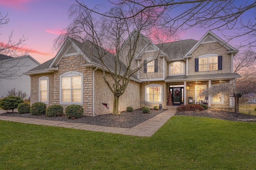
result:
M 72 102 L 72 94 L 70 101 L 71 102 L 62 102 L 62 77 L 70 77 L 70 76 L 81 76 L 81 102 Z M 83 105 L 83 73 L 77 72 L 77 71 L 68 71 L 60 75 L 60 104 L 78 104 L 78 105 Z M 71 89 L 72 90 L 72 89 Z M 72 93 L 72 92 L 71 92 Z

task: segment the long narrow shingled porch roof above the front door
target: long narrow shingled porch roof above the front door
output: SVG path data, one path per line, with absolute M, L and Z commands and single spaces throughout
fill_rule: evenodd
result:
M 175 81 L 193 81 L 193 80 L 210 80 L 210 79 L 229 79 L 229 78 L 240 78 L 238 73 L 220 73 L 220 74 L 200 74 L 200 75 L 178 75 L 178 76 L 167 76 L 165 82 L 175 82 Z

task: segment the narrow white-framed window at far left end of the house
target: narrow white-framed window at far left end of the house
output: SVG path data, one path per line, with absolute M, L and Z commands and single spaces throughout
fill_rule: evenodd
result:
M 42 76 L 39 78 L 39 102 L 49 104 L 49 78 Z

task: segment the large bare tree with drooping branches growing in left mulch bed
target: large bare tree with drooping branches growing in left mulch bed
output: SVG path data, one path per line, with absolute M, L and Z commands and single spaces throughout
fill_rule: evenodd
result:
M 88 10 L 83 3 L 74 4 L 69 9 L 70 24 L 55 40 L 54 49 L 58 49 L 67 37 L 86 42 L 86 51 L 101 62 L 103 79 L 114 95 L 113 115 L 118 115 L 119 97 L 122 96 L 131 78 L 144 64 L 158 58 L 158 53 L 146 63 L 137 63 L 134 57 L 142 49 L 142 38 L 157 31 L 158 12 L 148 11 L 151 15 L 136 15 L 136 10 L 124 9 L 122 5 L 111 8 L 105 17 Z M 97 10 L 97 9 L 94 9 Z M 120 20 L 117 16 L 127 18 Z M 142 35 L 143 32 L 143 35 Z M 152 38 L 152 37 L 150 37 Z M 157 37 L 155 37 L 157 38 Z M 146 45 L 146 44 L 144 44 Z M 105 50 L 106 49 L 106 50 Z M 110 55 L 109 52 L 115 53 Z M 111 64 L 110 64 L 111 63 Z M 110 78 L 106 75 L 110 75 Z

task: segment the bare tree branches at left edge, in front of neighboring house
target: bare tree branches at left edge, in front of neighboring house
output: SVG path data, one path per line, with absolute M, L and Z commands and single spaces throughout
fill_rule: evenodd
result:
M 0 27 L 2 25 L 8 24 L 10 19 L 8 14 L 3 16 L 0 12 Z M 1 33 L 0 33 L 1 35 Z M 20 62 L 19 57 L 27 55 L 28 49 L 24 50 L 23 45 L 26 41 L 24 35 L 18 41 L 12 41 L 13 31 L 8 37 L 8 41 L 0 41 L 0 80 L 3 79 L 14 79 L 22 75 L 20 67 L 24 63 Z M 13 60 L 16 58 L 15 60 Z

